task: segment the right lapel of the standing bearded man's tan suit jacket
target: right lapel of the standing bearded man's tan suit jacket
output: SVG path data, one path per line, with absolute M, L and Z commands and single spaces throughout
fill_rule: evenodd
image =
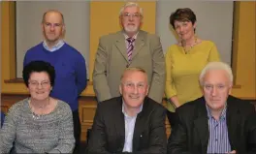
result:
M 136 55 L 139 53 L 139 51 L 143 48 L 143 46 L 145 44 L 144 43 L 145 35 L 146 34 L 143 31 L 140 31 L 138 33 L 137 39 L 135 40 L 135 49 L 133 50 L 133 53 L 132 53 L 132 59 L 134 59 L 136 57 Z

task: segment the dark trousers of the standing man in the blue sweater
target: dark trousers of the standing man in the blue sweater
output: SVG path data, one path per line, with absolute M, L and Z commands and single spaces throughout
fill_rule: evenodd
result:
M 74 153 L 80 151 L 80 113 L 79 109 L 73 110 L 74 137 L 76 139 Z

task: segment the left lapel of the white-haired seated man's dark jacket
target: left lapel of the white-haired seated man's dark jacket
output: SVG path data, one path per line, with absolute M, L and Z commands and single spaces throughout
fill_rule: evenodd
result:
M 207 153 L 208 151 L 208 112 L 206 108 L 205 99 L 201 99 L 201 103 L 198 104 L 198 118 L 194 120 L 194 125 L 197 134 L 202 143 L 202 151 L 203 153 Z M 195 137 L 196 138 L 196 137 Z

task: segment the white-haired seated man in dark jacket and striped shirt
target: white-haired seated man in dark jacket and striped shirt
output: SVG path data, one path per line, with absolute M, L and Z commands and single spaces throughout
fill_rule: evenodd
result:
M 204 97 L 176 109 L 169 154 L 256 153 L 255 109 L 230 96 L 232 83 L 229 65 L 208 63 L 200 75 Z

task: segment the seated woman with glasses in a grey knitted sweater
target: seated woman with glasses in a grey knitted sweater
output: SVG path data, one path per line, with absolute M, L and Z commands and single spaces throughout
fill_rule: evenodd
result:
M 0 153 L 72 153 L 75 146 L 72 111 L 49 96 L 54 68 L 32 61 L 23 69 L 30 97 L 9 109 L 0 132 Z

